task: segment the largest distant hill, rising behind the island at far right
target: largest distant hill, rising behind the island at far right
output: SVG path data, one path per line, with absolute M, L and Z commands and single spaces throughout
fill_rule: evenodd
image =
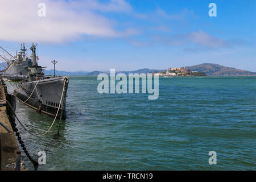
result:
M 192 71 L 204 72 L 208 76 L 256 76 L 256 72 L 244 71 L 219 64 L 204 63 L 186 67 Z

